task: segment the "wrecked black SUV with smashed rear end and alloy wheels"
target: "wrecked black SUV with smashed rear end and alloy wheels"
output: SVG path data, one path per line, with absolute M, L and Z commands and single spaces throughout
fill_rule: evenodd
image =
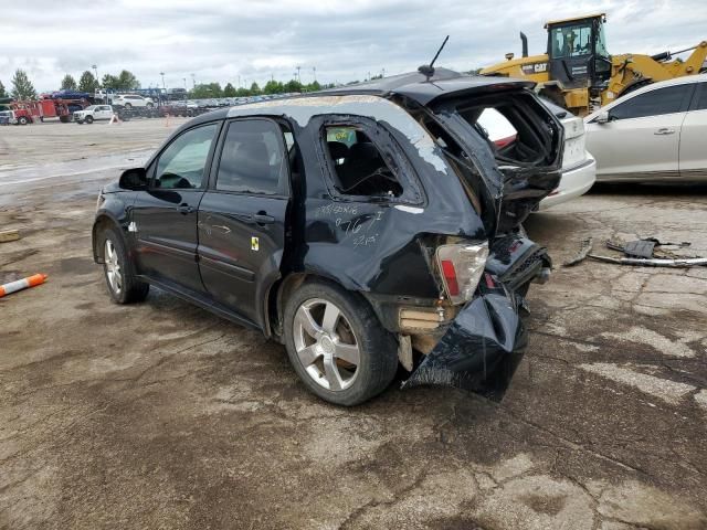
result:
M 102 190 L 95 261 L 119 304 L 154 285 L 261 329 L 333 403 L 399 364 L 404 385 L 498 398 L 550 271 L 520 223 L 563 132 L 532 86 L 437 68 L 202 115 Z M 514 130 L 498 145 L 492 108 Z

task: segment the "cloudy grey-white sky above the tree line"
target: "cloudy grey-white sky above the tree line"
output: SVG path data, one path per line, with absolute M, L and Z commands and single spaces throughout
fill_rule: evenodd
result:
M 65 6 L 64 6 L 65 3 Z M 611 53 L 657 53 L 707 40 L 705 0 L 524 2 L 509 0 L 2 0 L 0 81 L 15 68 L 35 87 L 56 89 L 96 64 L 99 76 L 123 68 L 144 87 L 238 85 L 271 76 L 286 81 L 297 66 L 304 83 L 363 80 L 429 62 L 444 35 L 437 64 L 471 70 L 520 52 L 545 51 L 548 19 L 605 11 Z M 91 9 L 86 8 L 91 6 Z M 184 81 L 186 80 L 186 81 Z

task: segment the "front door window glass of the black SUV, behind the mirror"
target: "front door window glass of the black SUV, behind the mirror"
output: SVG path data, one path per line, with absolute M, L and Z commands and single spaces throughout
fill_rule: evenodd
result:
M 155 188 L 175 190 L 200 188 L 217 124 L 183 132 L 160 155 Z

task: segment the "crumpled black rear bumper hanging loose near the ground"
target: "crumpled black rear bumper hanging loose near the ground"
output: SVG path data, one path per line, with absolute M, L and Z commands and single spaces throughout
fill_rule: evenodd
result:
M 482 283 L 484 280 L 482 279 Z M 503 284 L 479 286 L 440 342 L 403 388 L 456 386 L 500 401 L 523 359 L 527 331 L 519 315 L 523 298 Z

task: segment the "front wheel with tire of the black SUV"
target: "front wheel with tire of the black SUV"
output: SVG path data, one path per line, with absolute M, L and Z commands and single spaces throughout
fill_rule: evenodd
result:
M 128 258 L 123 237 L 115 229 L 106 229 L 101 234 L 103 252 L 103 272 L 116 304 L 131 304 L 143 301 L 149 293 L 150 286 L 135 277 L 133 263 Z

